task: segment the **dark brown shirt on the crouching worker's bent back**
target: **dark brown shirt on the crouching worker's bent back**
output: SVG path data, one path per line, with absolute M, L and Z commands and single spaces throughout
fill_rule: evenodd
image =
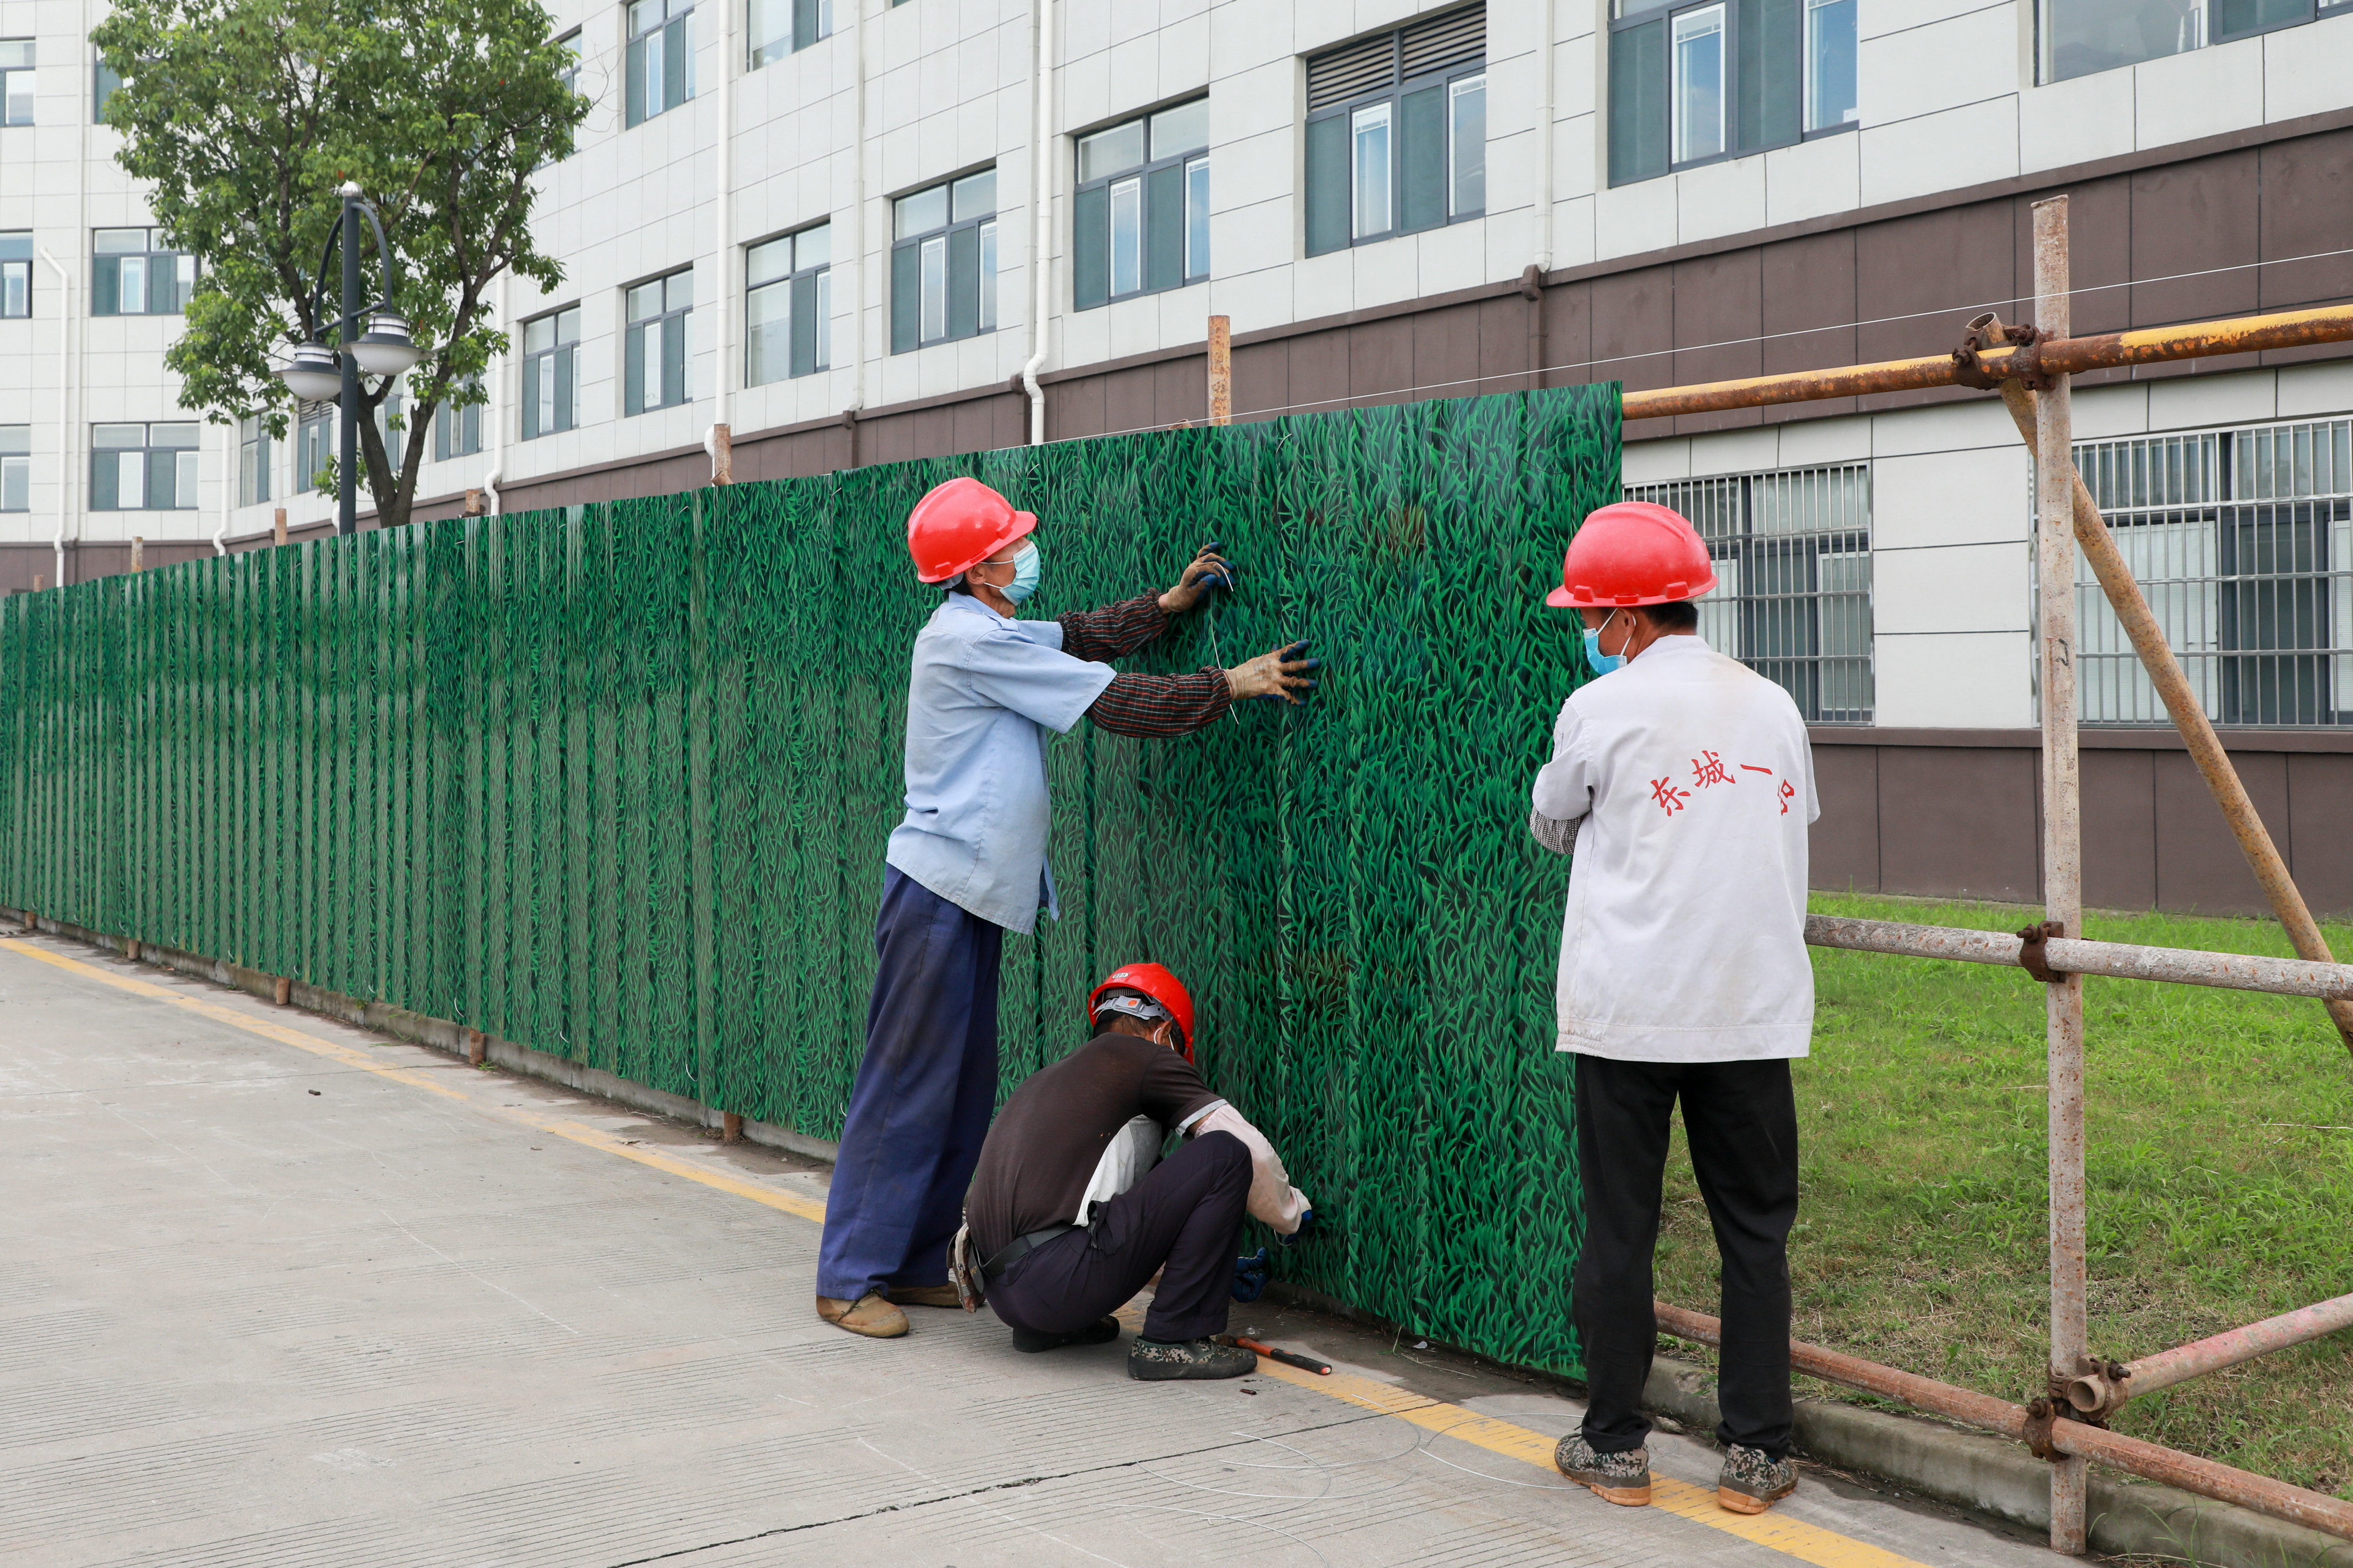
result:
M 1174 1130 L 1214 1104 L 1191 1062 L 1134 1034 L 1096 1036 L 1031 1074 L 998 1111 L 972 1172 L 965 1224 L 974 1245 L 991 1257 L 1014 1236 L 1085 1224 L 1080 1201 L 1129 1121 Z

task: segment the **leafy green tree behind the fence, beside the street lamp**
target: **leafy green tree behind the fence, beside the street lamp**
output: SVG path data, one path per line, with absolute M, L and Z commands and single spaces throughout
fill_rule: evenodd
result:
M 506 353 L 492 283 L 506 268 L 541 290 L 562 278 L 532 242 L 534 172 L 572 151 L 588 101 L 551 31 L 539 0 L 115 0 L 92 31 L 122 75 L 106 101 L 115 158 L 148 184 L 169 242 L 200 259 L 165 356 L 186 407 L 216 424 L 261 414 L 285 438 L 294 398 L 273 360 L 336 341 L 339 268 L 325 311 L 313 287 L 336 188 L 358 181 L 393 250 L 393 308 L 426 348 L 398 454 L 376 417 L 393 381 L 362 377 L 360 398 L 376 518 L 409 520 L 433 412 L 480 403 Z M 360 228 L 374 299 L 384 268 Z

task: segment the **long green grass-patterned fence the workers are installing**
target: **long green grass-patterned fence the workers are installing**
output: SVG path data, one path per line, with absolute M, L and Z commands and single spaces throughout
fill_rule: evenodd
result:
M 1009 1090 L 1113 963 L 1337 1215 L 1292 1278 L 1574 1368 L 1544 610 L 1619 492 L 1614 386 L 1073 440 L 193 560 L 0 605 L 0 904 L 459 1019 L 831 1137 L 899 817 L 906 513 L 1040 513 L 1035 614 L 1242 570 L 1146 669 L 1325 655 L 1308 709 L 1049 749 L 1064 918 Z

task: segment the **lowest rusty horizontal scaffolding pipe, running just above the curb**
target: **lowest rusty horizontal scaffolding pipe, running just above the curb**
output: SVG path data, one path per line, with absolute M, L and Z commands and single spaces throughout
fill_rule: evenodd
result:
M 1654 1311 L 1659 1314 L 1661 1333 L 1675 1335 L 1678 1340 L 1692 1340 L 1694 1344 L 1722 1347 L 1725 1342 L 1725 1330 L 1718 1318 L 1671 1307 L 1666 1302 L 1654 1302 Z M 2108 1431 L 2106 1427 L 2092 1427 L 2073 1420 L 2049 1420 L 2047 1408 L 2038 1413 L 2026 1406 L 2014 1406 L 2007 1398 L 1979 1394 L 1977 1389 L 1955 1389 L 1953 1384 L 1937 1382 L 1934 1377 L 1899 1373 L 1892 1366 L 1842 1356 L 1833 1349 L 1805 1344 L 1800 1340 L 1791 1340 L 1788 1363 L 1791 1370 L 1805 1373 L 1807 1377 L 1821 1377 L 1824 1382 L 1835 1382 L 1847 1389 L 1878 1394 L 1880 1398 L 1892 1398 L 1915 1410 L 1927 1410 L 1929 1415 L 1946 1415 L 1995 1436 L 2035 1443 L 2038 1448 L 2049 1448 L 2059 1455 L 2073 1455 L 2073 1462 L 2099 1460 L 2101 1464 L 2120 1469 L 2127 1476 L 2162 1481 L 2167 1486 L 2179 1486 L 2186 1493 L 2198 1493 L 2200 1497 L 2233 1502 L 2242 1509 L 2268 1514 L 2271 1519 L 2285 1519 L 2289 1523 L 2306 1526 L 2308 1530 L 2327 1530 L 2329 1535 L 2353 1540 L 2353 1502 L 2344 1502 L 2339 1497 L 2311 1493 L 2301 1486 L 2273 1481 L 2271 1476 L 2257 1476 L 2245 1469 L 2231 1469 L 2228 1464 L 2200 1460 L 2177 1448 L 2165 1448 L 2162 1443 L 2148 1443 L 2125 1436 L 2122 1431 Z

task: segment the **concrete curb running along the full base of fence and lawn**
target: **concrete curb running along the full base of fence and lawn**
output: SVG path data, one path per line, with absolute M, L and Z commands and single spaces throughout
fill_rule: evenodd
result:
M 181 975 L 209 979 L 212 984 L 259 996 L 261 1001 L 278 1001 L 278 977 L 264 975 L 261 970 L 247 970 L 219 958 L 200 958 L 195 954 L 181 954 L 153 944 L 132 944 L 127 937 L 108 937 L 80 925 L 42 918 L 31 911 L 0 909 L 0 913 L 16 918 L 19 925 L 31 930 L 125 954 L 132 963 L 155 963 L 160 968 L 179 970 Z M 468 1055 L 468 1034 L 478 1034 L 449 1019 L 409 1012 L 407 1008 L 393 1008 L 388 1003 L 362 1003 L 355 996 L 325 991 L 304 982 L 289 984 L 285 1005 L 341 1019 L 372 1034 L 445 1050 L 456 1057 Z M 633 1083 L 631 1078 L 619 1078 L 595 1067 L 581 1067 L 579 1062 L 532 1050 L 529 1045 L 518 1045 L 515 1041 L 499 1036 L 478 1034 L 478 1038 L 482 1045 L 482 1059 L 494 1062 L 506 1071 L 560 1083 L 600 1099 L 668 1116 L 696 1128 L 725 1125 L 718 1109 L 687 1099 L 685 1095 L 647 1088 L 645 1083 Z M 741 1137 L 753 1144 L 826 1163 L 833 1163 L 840 1151 L 840 1147 L 831 1140 L 809 1137 L 807 1132 L 776 1128 L 765 1121 L 751 1121 L 748 1116 L 741 1121 Z M 1334 1302 L 1318 1290 L 1306 1290 L 1282 1281 L 1273 1283 L 1268 1295 L 1275 1300 L 1294 1300 L 1301 1307 L 1334 1311 L 1337 1316 L 1358 1323 L 1398 1328 L 1386 1318 Z M 1447 1349 L 1497 1370 L 1534 1375 L 1539 1382 L 1569 1382 L 1555 1373 L 1513 1368 L 1475 1351 L 1461 1351 L 1457 1347 Z M 1711 1384 L 1713 1377 L 1704 1368 L 1697 1368 L 1689 1361 L 1675 1361 L 1673 1356 L 1657 1356 L 1649 1368 L 1649 1382 L 1642 1387 L 1642 1403 L 1652 1413 L 1666 1415 L 1687 1427 L 1694 1436 L 1713 1441 L 1711 1434 L 1715 1431 L 1720 1413 L 1715 1394 L 1711 1394 Z M 1861 1406 L 1824 1398 L 1800 1398 L 1795 1415 L 1798 1450 L 1809 1460 L 1894 1481 L 1920 1493 L 1922 1497 L 1951 1502 L 1977 1514 L 1991 1514 L 1993 1519 L 2002 1519 L 2014 1526 L 2049 1530 L 2049 1467 L 2014 1443 L 2005 1443 L 2002 1439 L 1981 1431 L 1948 1427 L 1946 1422 L 1925 1415 L 1889 1415 L 1885 1410 L 1866 1410 Z M 2097 1469 L 2092 1471 L 2087 1544 L 2092 1552 L 2106 1556 L 2153 1556 L 2212 1568 L 2353 1568 L 2353 1542 L 2322 1535 L 2320 1530 L 2306 1530 L 2301 1526 L 2271 1519 L 2268 1514 L 2257 1514 L 2254 1509 L 2198 1497 L 2172 1486 L 2139 1481 L 2122 1483 L 2099 1474 Z

